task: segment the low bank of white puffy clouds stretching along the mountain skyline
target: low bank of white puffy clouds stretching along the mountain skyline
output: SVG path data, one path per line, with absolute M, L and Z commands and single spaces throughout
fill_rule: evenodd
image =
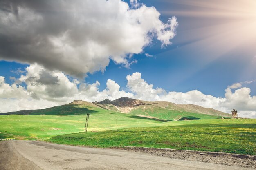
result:
M 242 87 L 232 92 L 225 90 L 225 97 L 206 95 L 198 90 L 183 92 L 166 91 L 148 84 L 141 73 L 126 76 L 128 92 L 121 91 L 119 84 L 108 79 L 106 88 L 99 91 L 100 83 L 80 83 L 77 79 L 68 78 L 60 71 L 50 71 L 38 64 L 26 68 L 26 73 L 19 78 L 27 86 L 7 84 L 5 77 L 0 76 L 0 111 L 16 111 L 38 109 L 67 104 L 75 99 L 88 102 L 104 99 L 115 100 L 130 97 L 148 101 L 169 101 L 176 104 L 196 104 L 230 113 L 236 108 L 241 117 L 256 118 L 256 96 L 252 96 L 250 88 Z

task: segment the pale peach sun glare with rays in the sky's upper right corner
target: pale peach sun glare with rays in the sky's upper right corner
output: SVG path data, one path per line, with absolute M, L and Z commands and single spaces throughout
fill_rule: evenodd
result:
M 200 38 L 195 43 L 209 44 L 219 56 L 244 46 L 247 52 L 256 52 L 256 0 L 177 0 L 175 3 L 188 8 L 163 13 L 177 15 L 178 19 L 179 16 L 192 18 L 191 22 L 205 18 L 207 24 L 211 23 L 211 26 L 199 24 L 191 31 L 191 40 L 195 35 Z M 184 38 L 185 42 L 188 40 Z

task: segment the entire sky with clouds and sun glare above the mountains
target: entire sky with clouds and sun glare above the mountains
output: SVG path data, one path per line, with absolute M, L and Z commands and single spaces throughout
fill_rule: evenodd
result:
M 0 112 L 131 97 L 256 118 L 255 0 L 1 0 Z

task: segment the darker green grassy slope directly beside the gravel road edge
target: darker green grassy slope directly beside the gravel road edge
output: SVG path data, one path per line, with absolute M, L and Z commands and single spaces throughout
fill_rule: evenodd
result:
M 96 147 L 139 146 L 256 155 L 256 119 L 172 121 L 161 125 L 60 135 L 48 141 Z

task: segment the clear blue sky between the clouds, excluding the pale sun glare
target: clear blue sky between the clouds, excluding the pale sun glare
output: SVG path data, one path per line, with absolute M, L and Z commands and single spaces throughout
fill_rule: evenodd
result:
M 163 22 L 166 22 L 173 15 L 177 17 L 179 26 L 177 35 L 172 40 L 172 45 L 161 48 L 161 43 L 154 40 L 153 44 L 144 49 L 144 53 L 134 55 L 138 62 L 132 64 L 130 69 L 110 61 L 103 74 L 101 71 L 89 74 L 85 78 L 86 82 L 93 83 L 98 80 L 101 82 L 99 89 L 103 90 L 106 88 L 105 82 L 112 79 L 125 89 L 126 75 L 140 72 L 148 83 L 167 91 L 186 92 L 197 89 L 204 94 L 224 97 L 224 90 L 227 86 L 236 82 L 256 79 L 256 65 L 251 63 L 252 57 L 256 55 L 256 50 L 248 54 L 247 49 L 241 47 L 242 49 L 233 49 L 218 56 L 218 54 L 212 54 L 214 50 L 218 50 L 218 46 L 213 46 L 213 49 L 209 51 L 202 51 L 202 49 L 208 48 L 211 44 L 191 48 L 193 45 L 190 46 L 190 44 L 214 33 L 208 30 L 209 32 L 206 32 L 202 37 L 201 32 L 191 35 L 191 33 L 194 33 L 191 30 L 220 24 L 223 22 L 222 20 L 216 22 L 218 18 L 190 17 L 175 13 L 175 11 L 190 11 L 191 8 L 198 8 L 179 4 L 177 0 L 141 0 L 140 2 L 147 6 L 154 6 L 161 13 L 160 18 Z M 162 11 L 169 11 L 170 13 L 166 14 Z M 204 31 L 207 31 L 207 29 Z M 184 40 L 184 36 L 191 38 Z M 253 44 L 251 45 L 253 46 Z M 153 57 L 146 57 L 145 53 L 153 55 Z M 0 75 L 17 77 L 17 74 L 10 71 L 27 66 L 28 64 L 2 60 L 0 62 Z M 8 78 L 6 81 L 11 83 Z M 251 94 L 256 95 L 256 83 L 247 84 L 247 86 L 251 88 Z

